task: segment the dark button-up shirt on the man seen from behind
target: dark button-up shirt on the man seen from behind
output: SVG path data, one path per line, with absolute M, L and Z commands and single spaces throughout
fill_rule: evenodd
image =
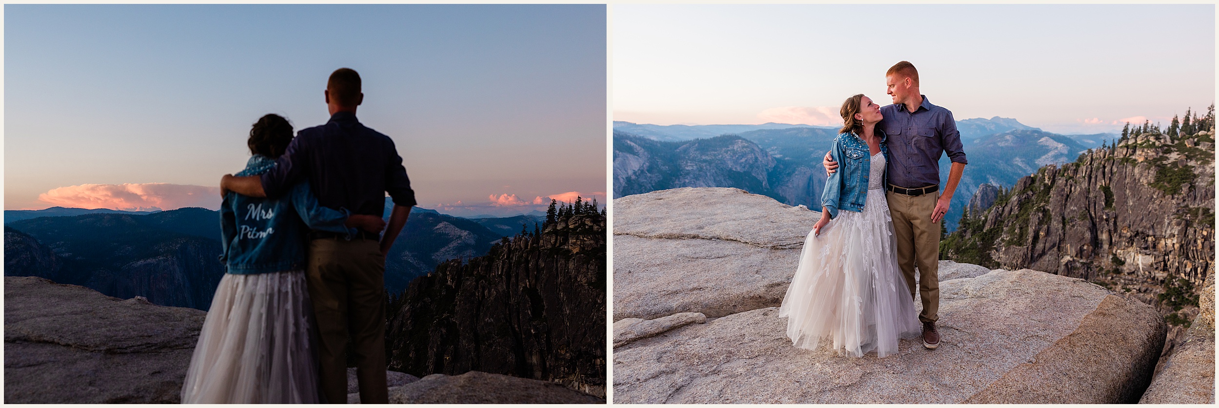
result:
M 296 133 L 296 138 L 262 173 L 267 197 L 289 191 L 304 175 L 318 203 L 347 208 L 356 214 L 383 216 L 385 192 L 399 206 L 414 206 L 414 190 L 402 157 L 389 136 L 369 129 L 351 112 L 336 112 L 330 122 Z

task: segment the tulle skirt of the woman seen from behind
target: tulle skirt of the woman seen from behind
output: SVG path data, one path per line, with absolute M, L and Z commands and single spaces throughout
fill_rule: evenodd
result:
M 199 334 L 183 403 L 318 403 L 305 272 L 224 274 Z

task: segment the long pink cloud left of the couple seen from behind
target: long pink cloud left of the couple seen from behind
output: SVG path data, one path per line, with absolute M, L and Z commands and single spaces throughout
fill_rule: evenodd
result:
M 182 207 L 219 209 L 221 190 L 213 186 L 168 183 L 82 184 L 43 192 L 38 195 L 38 201 L 52 206 L 89 209 L 152 211 Z

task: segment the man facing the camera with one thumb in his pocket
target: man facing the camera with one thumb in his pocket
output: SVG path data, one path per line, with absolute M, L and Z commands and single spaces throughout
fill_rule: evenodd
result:
M 906 278 L 911 298 L 918 287 L 923 297 L 923 346 L 940 347 L 940 332 L 935 329 L 940 311 L 940 222 L 948 212 L 948 202 L 965 171 L 965 152 L 961 146 L 961 134 L 952 112 L 931 105 L 918 88 L 918 71 L 914 65 L 902 61 L 885 73 L 886 94 L 894 105 L 880 108 L 884 119 L 876 129 L 885 133 L 889 142 L 889 185 L 885 188 L 889 212 L 894 219 L 894 237 L 897 241 L 897 264 Z M 944 192 L 940 189 L 940 155 L 948 153 L 952 168 Z M 825 155 L 823 163 L 828 173 L 834 173 L 837 162 Z M 914 283 L 914 266 L 918 266 L 918 286 Z

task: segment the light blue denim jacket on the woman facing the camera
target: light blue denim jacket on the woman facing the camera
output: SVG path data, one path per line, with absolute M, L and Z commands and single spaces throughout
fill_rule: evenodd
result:
M 886 136 L 880 132 L 876 134 L 880 135 L 880 152 L 885 155 L 887 163 Z M 855 133 L 840 133 L 834 139 L 830 156 L 839 162 L 839 168 L 825 180 L 822 206 L 829 211 L 830 219 L 837 218 L 839 209 L 863 211 L 863 203 L 868 199 L 868 175 L 872 174 L 872 151 L 868 144 Z M 887 174 L 885 177 L 887 178 Z

